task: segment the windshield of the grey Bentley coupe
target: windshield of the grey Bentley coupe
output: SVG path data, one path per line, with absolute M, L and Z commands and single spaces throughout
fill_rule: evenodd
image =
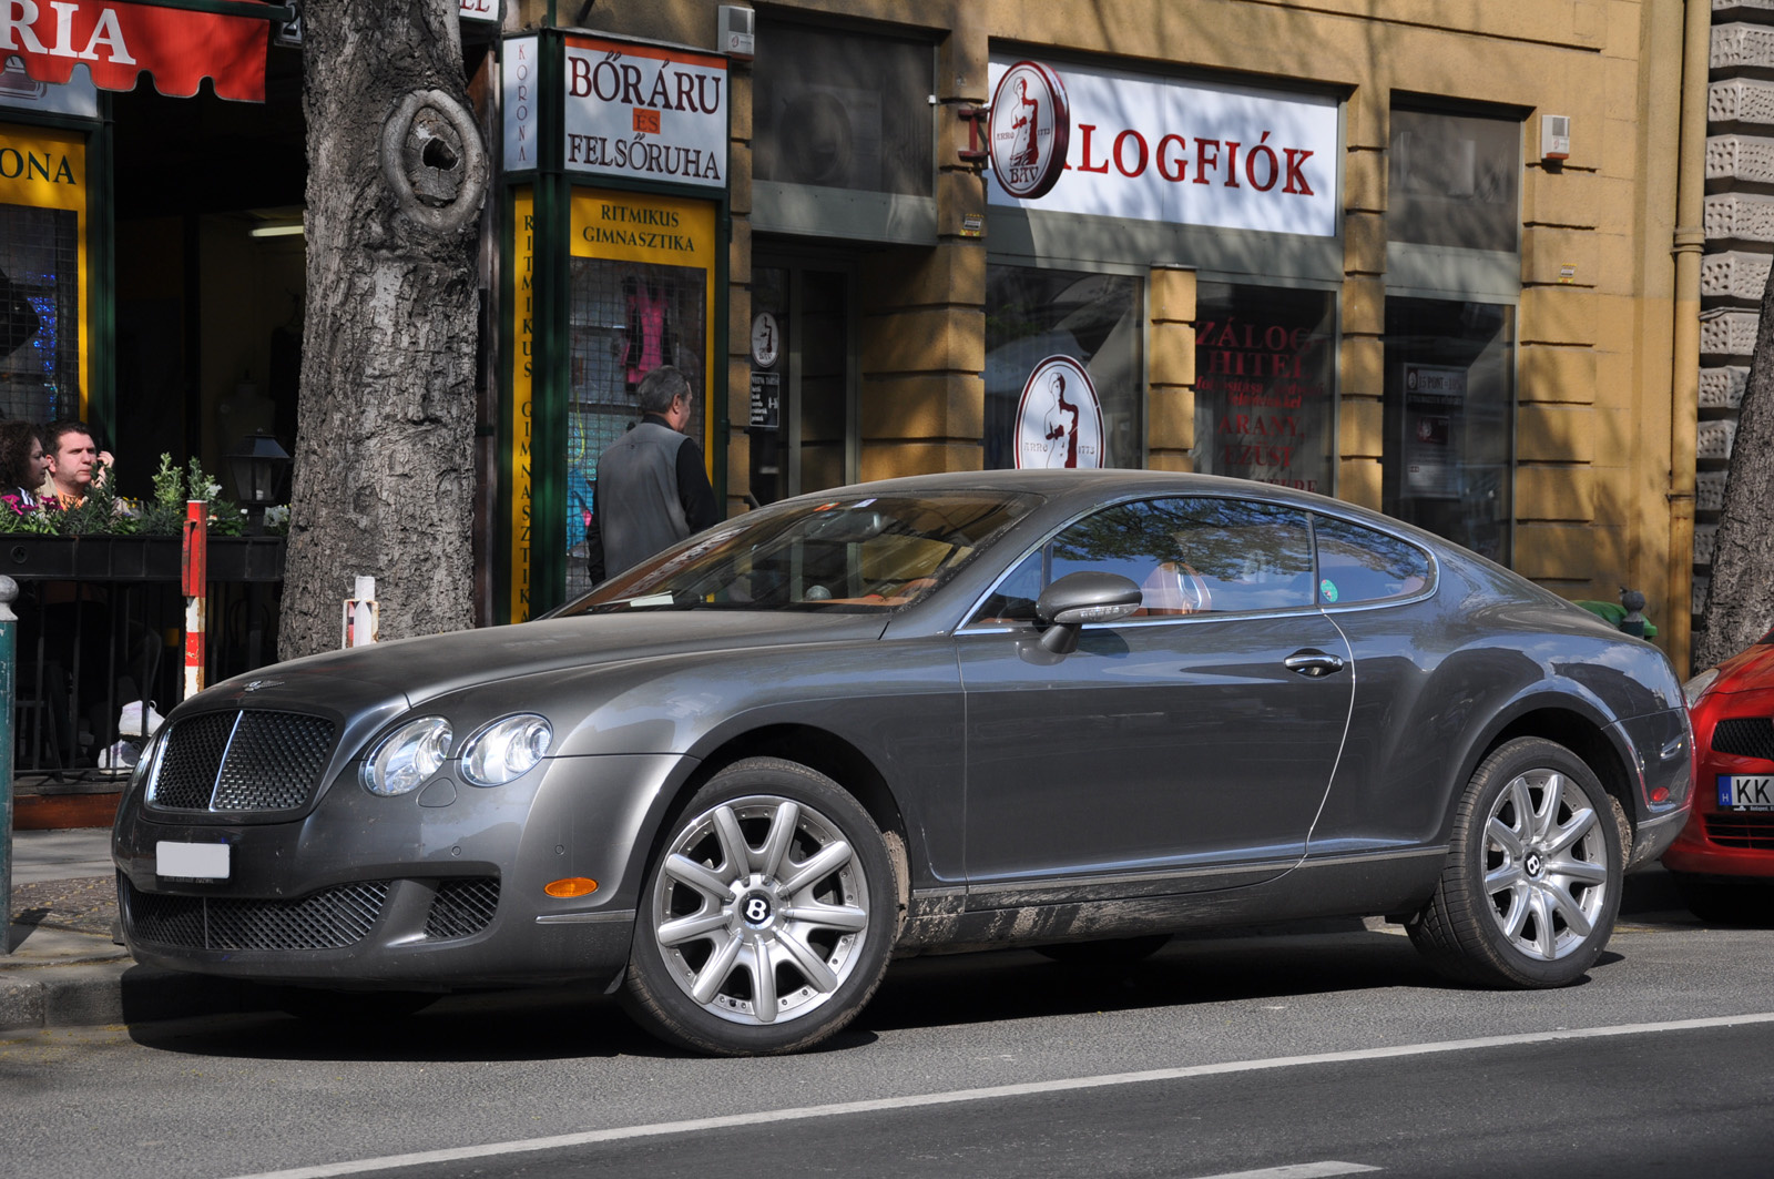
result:
M 1038 502 L 1034 495 L 953 492 L 775 504 L 624 570 L 559 614 L 896 609 L 946 582 Z

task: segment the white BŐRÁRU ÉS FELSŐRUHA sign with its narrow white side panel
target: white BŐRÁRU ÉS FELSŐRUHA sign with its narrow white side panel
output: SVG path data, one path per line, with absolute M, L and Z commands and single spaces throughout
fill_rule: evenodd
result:
M 536 167 L 534 37 L 506 41 L 506 169 Z M 727 62 L 690 50 L 566 39 L 568 172 L 699 188 L 727 185 Z

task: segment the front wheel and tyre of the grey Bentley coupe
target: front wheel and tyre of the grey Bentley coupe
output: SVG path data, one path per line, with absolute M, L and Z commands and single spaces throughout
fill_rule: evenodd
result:
M 880 985 L 898 891 L 880 829 L 837 783 L 779 758 L 736 762 L 658 851 L 624 1001 L 694 1051 L 811 1048 Z

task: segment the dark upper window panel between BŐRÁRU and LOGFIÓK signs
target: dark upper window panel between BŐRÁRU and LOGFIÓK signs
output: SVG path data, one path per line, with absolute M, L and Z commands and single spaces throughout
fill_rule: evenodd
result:
M 754 179 L 933 195 L 933 73 L 924 43 L 761 23 Z

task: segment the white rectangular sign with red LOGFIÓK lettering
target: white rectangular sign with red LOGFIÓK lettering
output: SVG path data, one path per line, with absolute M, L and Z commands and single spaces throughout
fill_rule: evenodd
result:
M 993 57 L 993 94 L 1018 60 Z M 1066 167 L 1040 199 L 1013 197 L 1015 185 L 988 172 L 992 204 L 1336 236 L 1336 99 L 1082 66 L 1054 71 L 1071 114 Z

